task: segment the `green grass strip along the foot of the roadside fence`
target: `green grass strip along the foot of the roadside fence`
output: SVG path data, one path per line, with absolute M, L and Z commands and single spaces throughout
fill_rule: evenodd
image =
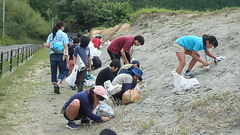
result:
M 28 76 L 34 76 L 34 65 L 41 63 L 49 63 L 49 52 L 47 48 L 40 49 L 36 52 L 32 59 L 26 61 L 26 63 L 17 68 L 12 74 L 4 77 L 0 80 L 0 130 L 10 129 L 6 126 L 11 114 L 18 113 L 23 106 L 23 102 L 32 93 L 34 88 L 39 87 L 39 82 L 32 82 L 28 80 Z M 3 121 L 6 121 L 5 123 Z M 11 125 L 11 123 L 10 123 Z

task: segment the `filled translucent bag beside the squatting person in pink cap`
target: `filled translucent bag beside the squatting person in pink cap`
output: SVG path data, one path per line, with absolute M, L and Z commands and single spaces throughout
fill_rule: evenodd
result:
M 97 115 L 100 115 L 102 117 L 114 116 L 114 111 L 113 111 L 112 107 L 107 105 L 105 102 L 101 102 L 97 107 L 96 107 Z

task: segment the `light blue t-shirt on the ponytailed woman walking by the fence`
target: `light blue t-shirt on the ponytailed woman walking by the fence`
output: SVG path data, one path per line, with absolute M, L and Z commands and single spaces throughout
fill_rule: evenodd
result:
M 57 43 L 57 44 L 62 45 L 62 46 L 64 46 L 65 44 L 69 44 L 67 34 L 60 29 L 57 31 L 54 38 L 53 38 L 52 33 L 49 34 L 47 42 L 50 43 L 50 48 L 53 47 L 53 43 Z M 54 52 L 50 49 L 50 54 L 52 54 L 52 53 L 54 53 Z

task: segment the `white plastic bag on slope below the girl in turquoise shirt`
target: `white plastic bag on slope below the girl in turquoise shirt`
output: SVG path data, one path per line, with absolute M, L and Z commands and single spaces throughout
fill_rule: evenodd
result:
M 186 79 L 183 76 L 179 75 L 176 71 L 172 71 L 172 74 L 174 78 L 174 91 L 183 91 L 199 84 L 196 78 Z

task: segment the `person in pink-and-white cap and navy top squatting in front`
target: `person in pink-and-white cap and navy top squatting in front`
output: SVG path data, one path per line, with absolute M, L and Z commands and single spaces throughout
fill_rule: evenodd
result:
M 66 125 L 70 129 L 79 129 L 74 120 L 81 120 L 87 117 L 95 122 L 108 121 L 109 117 L 102 117 L 94 114 L 92 111 L 99 104 L 99 101 L 108 99 L 107 92 L 102 86 L 95 86 L 90 90 L 78 92 L 73 95 L 62 107 L 62 113 L 68 120 Z

